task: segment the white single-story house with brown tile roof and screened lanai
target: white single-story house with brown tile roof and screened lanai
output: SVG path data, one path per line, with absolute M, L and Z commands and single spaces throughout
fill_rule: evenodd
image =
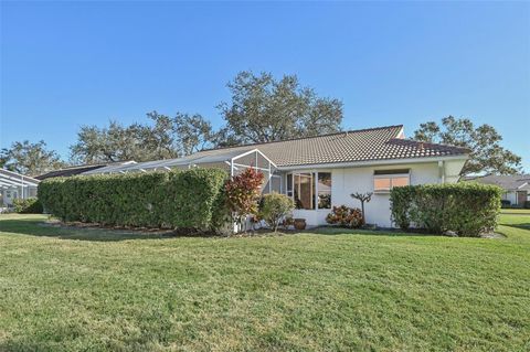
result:
M 266 192 L 293 198 L 295 217 L 308 225 L 326 223 L 331 206 L 360 206 L 353 192 L 373 192 L 367 221 L 391 226 L 389 193 L 393 186 L 457 182 L 469 150 L 407 140 L 403 126 L 352 130 L 318 137 L 204 150 L 179 159 L 105 167 L 83 174 L 221 167 L 236 174 L 262 170 Z

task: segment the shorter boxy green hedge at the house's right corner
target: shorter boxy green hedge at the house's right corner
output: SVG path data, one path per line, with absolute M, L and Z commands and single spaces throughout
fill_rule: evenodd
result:
M 392 218 L 403 230 L 455 232 L 479 236 L 497 226 L 502 190 L 471 182 L 394 188 L 390 192 Z

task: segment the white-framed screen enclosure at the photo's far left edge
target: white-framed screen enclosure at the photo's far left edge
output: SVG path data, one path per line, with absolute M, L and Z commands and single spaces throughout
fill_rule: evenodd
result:
M 0 169 L 0 207 L 10 206 L 14 199 L 36 198 L 39 180 Z

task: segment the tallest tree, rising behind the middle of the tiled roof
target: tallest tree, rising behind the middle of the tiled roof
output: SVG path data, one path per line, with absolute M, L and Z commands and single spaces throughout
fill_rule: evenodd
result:
M 231 103 L 218 106 L 226 126 L 218 145 L 268 142 L 340 130 L 342 103 L 318 97 L 296 75 L 279 81 L 271 73 L 241 72 L 227 84 Z

